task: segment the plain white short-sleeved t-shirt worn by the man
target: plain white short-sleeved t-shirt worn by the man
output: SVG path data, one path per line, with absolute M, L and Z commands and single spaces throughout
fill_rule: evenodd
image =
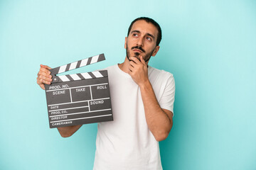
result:
M 94 169 L 162 169 L 159 142 L 146 124 L 139 86 L 117 64 L 107 71 L 114 121 L 98 123 Z M 173 75 L 153 67 L 148 74 L 161 108 L 174 113 Z

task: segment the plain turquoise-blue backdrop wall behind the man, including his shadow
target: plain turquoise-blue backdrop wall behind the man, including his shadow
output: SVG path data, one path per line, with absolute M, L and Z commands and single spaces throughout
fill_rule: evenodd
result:
M 163 31 L 149 64 L 174 74 L 174 127 L 164 169 L 256 169 L 256 1 L 0 1 L 0 169 L 92 169 L 97 124 L 72 137 L 50 129 L 40 64 L 105 53 L 124 61 L 134 18 Z M 74 72 L 74 73 L 75 73 Z M 73 72 L 69 72 L 73 73 Z

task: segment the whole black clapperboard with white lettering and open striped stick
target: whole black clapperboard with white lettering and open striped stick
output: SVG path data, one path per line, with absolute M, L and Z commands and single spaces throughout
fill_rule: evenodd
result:
M 56 76 L 105 60 L 104 54 L 50 69 L 46 84 L 50 128 L 113 120 L 107 70 Z

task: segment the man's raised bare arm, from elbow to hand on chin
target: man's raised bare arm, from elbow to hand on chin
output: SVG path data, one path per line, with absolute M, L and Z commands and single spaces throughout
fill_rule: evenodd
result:
M 131 57 L 131 60 L 129 74 L 140 87 L 146 123 L 157 141 L 165 140 L 173 125 L 172 112 L 159 106 L 143 58 L 140 57 L 141 62 L 136 57 Z

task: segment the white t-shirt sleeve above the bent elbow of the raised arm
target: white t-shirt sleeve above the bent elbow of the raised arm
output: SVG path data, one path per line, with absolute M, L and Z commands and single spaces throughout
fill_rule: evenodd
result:
M 159 105 L 161 108 L 171 111 L 174 113 L 174 96 L 175 96 L 175 81 L 174 76 L 171 74 L 166 81 L 164 93 L 161 96 Z

